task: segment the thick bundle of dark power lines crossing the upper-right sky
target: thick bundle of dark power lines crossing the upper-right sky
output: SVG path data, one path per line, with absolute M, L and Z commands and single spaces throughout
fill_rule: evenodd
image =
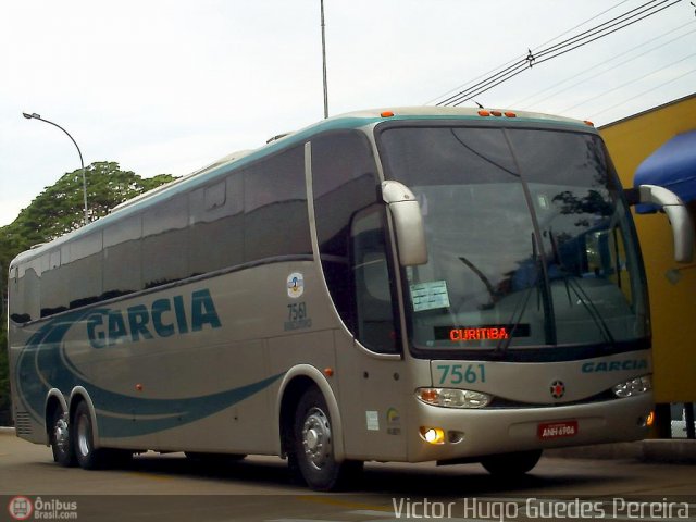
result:
M 437 105 L 460 105 L 464 101 L 471 100 L 480 96 L 481 94 L 513 78 L 514 76 L 523 73 L 527 69 L 532 69 L 533 65 L 538 65 L 540 63 L 547 62 L 554 58 L 557 58 L 561 54 L 566 54 L 574 49 L 579 49 L 584 47 L 599 38 L 604 38 L 613 34 L 620 29 L 629 27 L 642 20 L 645 20 L 649 16 L 652 16 L 664 9 L 668 9 L 682 0 L 650 0 L 647 3 L 644 3 L 637 8 L 634 8 L 620 16 L 613 17 L 602 24 L 599 24 L 596 27 L 587 29 L 574 37 L 568 38 L 559 44 L 551 46 L 548 49 L 544 49 L 536 54 L 532 53 L 529 50 L 527 55 L 524 59 L 517 60 L 512 62 L 512 65 L 507 66 L 506 69 L 495 73 L 494 75 L 472 85 L 471 87 L 450 96 L 449 98 L 440 101 Z M 664 5 L 667 3 L 667 5 Z M 646 5 L 655 4 L 646 8 Z M 644 9 L 646 8 L 646 9 Z M 659 8 L 659 9 L 658 9 Z M 617 22 L 618 21 L 618 22 Z M 546 57 L 543 60 L 538 60 L 540 57 Z

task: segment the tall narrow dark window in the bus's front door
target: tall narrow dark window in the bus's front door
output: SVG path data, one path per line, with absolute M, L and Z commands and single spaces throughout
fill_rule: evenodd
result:
M 358 340 L 382 353 L 398 352 L 384 209 L 356 215 L 350 228 Z

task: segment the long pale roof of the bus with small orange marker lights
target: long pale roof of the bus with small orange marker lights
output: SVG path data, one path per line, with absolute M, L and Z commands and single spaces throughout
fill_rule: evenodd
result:
M 40 244 L 32 247 L 32 249 L 20 253 L 11 263 L 14 266 L 20 261 L 27 261 L 44 254 L 46 251 L 55 248 L 70 239 L 80 237 L 83 235 L 97 232 L 108 226 L 121 217 L 132 215 L 136 212 L 145 210 L 157 201 L 169 199 L 181 194 L 184 190 L 202 186 L 214 179 L 219 175 L 223 175 L 232 166 L 244 166 L 248 163 L 273 154 L 277 151 L 300 145 L 310 137 L 326 130 L 359 128 L 375 125 L 385 121 L 414 121 L 414 120 L 493 120 L 500 124 L 511 124 L 514 122 L 526 122 L 530 124 L 559 124 L 563 126 L 582 126 L 585 130 L 587 126 L 592 126 L 591 122 L 582 122 L 570 117 L 556 116 L 527 111 L 511 111 L 508 109 L 475 109 L 475 108 L 458 108 L 458 107 L 396 107 L 382 109 L 368 109 L 356 112 L 349 112 L 336 116 L 322 120 L 313 125 L 304 127 L 301 130 L 282 135 L 269 140 L 266 145 L 259 149 L 244 150 L 234 152 L 221 158 L 213 163 L 199 169 L 190 174 L 182 176 L 171 183 L 161 185 L 152 190 L 144 192 L 135 198 L 124 201 L 114 207 L 112 211 L 99 220 L 61 236 L 50 243 Z M 493 122 L 492 122 L 493 123 Z

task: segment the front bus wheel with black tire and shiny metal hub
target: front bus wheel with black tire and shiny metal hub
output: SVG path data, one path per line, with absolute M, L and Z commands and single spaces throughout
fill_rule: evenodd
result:
M 298 402 L 293 446 L 290 468 L 299 472 L 310 488 L 319 492 L 345 486 L 351 473 L 362 468 L 362 462 L 337 462 L 334 458 L 331 415 L 316 387 L 307 389 Z

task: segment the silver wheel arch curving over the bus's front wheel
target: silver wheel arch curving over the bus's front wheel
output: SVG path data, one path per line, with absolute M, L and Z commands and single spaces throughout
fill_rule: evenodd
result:
M 326 376 L 311 364 L 298 364 L 284 376 L 276 398 L 275 419 L 281 440 L 281 456 L 288 453 L 293 439 L 293 421 L 297 405 L 307 389 L 315 386 L 324 396 L 334 432 L 334 458 L 340 462 L 345 459 L 344 431 L 338 409 L 338 401 Z

